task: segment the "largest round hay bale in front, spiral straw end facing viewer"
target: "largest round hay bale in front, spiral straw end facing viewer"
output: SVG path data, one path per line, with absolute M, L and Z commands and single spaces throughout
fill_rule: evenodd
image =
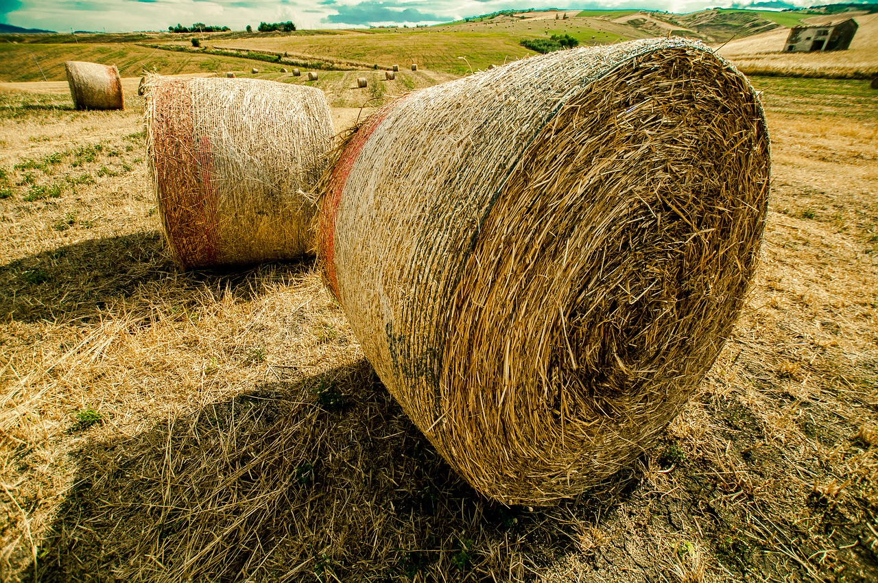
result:
M 709 47 L 515 61 L 386 105 L 321 189 L 327 284 L 471 486 L 581 493 L 649 448 L 729 337 L 770 157 Z

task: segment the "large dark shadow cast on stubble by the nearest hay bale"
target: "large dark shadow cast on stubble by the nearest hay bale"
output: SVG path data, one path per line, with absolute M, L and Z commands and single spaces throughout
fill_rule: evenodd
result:
M 75 457 L 75 486 L 38 553 L 40 581 L 532 579 L 638 476 L 546 509 L 486 500 L 365 360 Z

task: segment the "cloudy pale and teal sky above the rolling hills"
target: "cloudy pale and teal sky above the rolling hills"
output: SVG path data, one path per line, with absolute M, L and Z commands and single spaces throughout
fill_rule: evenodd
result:
M 180 23 L 233 30 L 291 20 L 299 28 L 437 24 L 510 8 L 646 9 L 806 7 L 831 0 L 0 0 L 0 23 L 58 32 L 167 30 Z

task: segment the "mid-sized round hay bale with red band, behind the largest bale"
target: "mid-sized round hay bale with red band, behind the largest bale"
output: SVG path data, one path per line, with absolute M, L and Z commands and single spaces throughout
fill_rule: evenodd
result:
M 300 190 L 331 148 L 323 92 L 258 79 L 155 77 L 147 86 L 148 163 L 176 262 L 313 253 L 316 205 Z

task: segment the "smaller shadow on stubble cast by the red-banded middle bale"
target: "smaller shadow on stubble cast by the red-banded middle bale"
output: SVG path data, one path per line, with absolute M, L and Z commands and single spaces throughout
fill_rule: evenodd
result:
M 205 285 L 224 288 L 235 295 L 252 296 L 245 284 L 260 270 L 309 269 L 310 262 L 274 263 L 234 271 L 176 269 L 164 250 L 158 231 L 81 241 L 43 251 L 0 265 L 0 318 L 4 320 L 58 321 L 98 318 L 115 301 L 142 293 L 144 301 L 127 306 L 127 313 L 147 313 L 147 298 L 180 306 L 195 301 L 193 290 Z M 144 288 L 150 287 L 149 292 Z

